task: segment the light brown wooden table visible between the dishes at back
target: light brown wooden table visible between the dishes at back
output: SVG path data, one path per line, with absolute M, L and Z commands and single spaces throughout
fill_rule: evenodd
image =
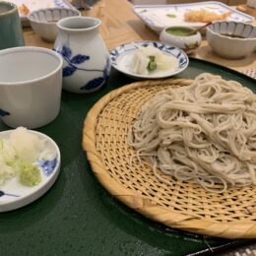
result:
M 101 19 L 100 34 L 106 46 L 111 49 L 120 43 L 136 40 L 159 40 L 159 34 L 149 29 L 132 11 L 127 0 L 101 0 L 83 15 Z M 254 23 L 256 25 L 256 22 Z M 52 43 L 40 39 L 31 28 L 24 28 L 27 45 L 51 48 Z M 216 55 L 203 38 L 201 47 L 193 57 L 224 65 L 237 71 L 256 68 L 256 52 L 239 60 L 228 60 Z

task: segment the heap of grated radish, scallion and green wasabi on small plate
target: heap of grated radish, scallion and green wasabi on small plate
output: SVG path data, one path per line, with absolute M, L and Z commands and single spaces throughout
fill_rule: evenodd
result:
M 45 140 L 32 134 L 25 127 L 13 130 L 9 138 L 0 139 L 0 187 L 15 176 L 25 186 L 35 186 L 41 181 L 36 160 L 51 160 L 52 150 L 44 149 Z

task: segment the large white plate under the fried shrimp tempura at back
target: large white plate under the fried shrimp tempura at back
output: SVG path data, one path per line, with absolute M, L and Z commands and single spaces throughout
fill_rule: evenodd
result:
M 200 10 L 202 8 L 218 14 L 231 11 L 231 15 L 226 19 L 227 21 L 244 23 L 254 21 L 252 16 L 236 11 L 221 2 L 214 1 L 177 5 L 135 5 L 133 6 L 133 11 L 152 30 L 161 32 L 164 28 L 169 26 L 191 26 L 193 28 L 203 26 L 204 23 L 187 23 L 184 21 L 185 12 Z

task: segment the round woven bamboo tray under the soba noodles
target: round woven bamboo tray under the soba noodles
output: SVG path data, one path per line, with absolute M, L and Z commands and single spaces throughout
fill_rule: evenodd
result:
M 192 182 L 161 183 L 127 144 L 141 106 L 162 90 L 191 80 L 138 82 L 103 96 L 90 110 L 83 148 L 96 178 L 111 195 L 147 218 L 171 227 L 225 238 L 256 238 L 256 187 L 205 191 Z

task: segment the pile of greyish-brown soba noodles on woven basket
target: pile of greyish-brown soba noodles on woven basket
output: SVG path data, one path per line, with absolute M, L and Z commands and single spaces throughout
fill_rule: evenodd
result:
M 201 74 L 146 103 L 128 142 L 169 185 L 162 173 L 217 193 L 256 185 L 256 96 L 237 82 Z

